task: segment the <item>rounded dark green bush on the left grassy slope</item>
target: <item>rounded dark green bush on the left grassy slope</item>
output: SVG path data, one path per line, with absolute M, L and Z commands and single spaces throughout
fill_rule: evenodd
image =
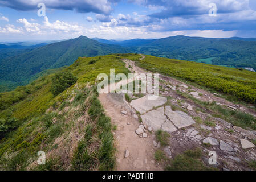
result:
M 71 72 L 59 72 L 52 77 L 51 93 L 57 96 L 78 80 Z

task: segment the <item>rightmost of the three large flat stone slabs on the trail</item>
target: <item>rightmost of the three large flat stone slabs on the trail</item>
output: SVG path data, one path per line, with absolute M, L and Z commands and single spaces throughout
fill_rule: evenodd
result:
M 179 110 L 173 111 L 170 106 L 165 106 L 165 114 L 178 129 L 195 123 L 192 117 L 190 117 L 188 114 Z

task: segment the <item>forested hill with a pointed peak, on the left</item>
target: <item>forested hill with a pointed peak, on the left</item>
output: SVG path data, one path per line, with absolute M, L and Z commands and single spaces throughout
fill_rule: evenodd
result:
M 26 85 L 36 74 L 46 69 L 71 65 L 78 57 L 120 52 L 124 53 L 126 50 L 120 46 L 99 43 L 84 36 L 48 44 L 29 52 L 1 59 L 0 83 L 1 85 Z

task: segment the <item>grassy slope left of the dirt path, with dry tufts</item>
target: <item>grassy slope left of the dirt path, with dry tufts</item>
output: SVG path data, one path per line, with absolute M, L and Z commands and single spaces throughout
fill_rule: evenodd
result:
M 80 57 L 63 70 L 78 81 L 56 97 L 50 92 L 54 75 L 2 93 L 1 104 L 5 104 L 0 119 L 18 119 L 18 127 L 0 140 L 0 169 L 113 169 L 111 120 L 104 115 L 94 85 L 97 75 L 109 75 L 110 68 L 115 68 L 116 74 L 128 73 L 120 59 L 117 55 Z M 46 152 L 43 166 L 36 162 L 40 150 Z

